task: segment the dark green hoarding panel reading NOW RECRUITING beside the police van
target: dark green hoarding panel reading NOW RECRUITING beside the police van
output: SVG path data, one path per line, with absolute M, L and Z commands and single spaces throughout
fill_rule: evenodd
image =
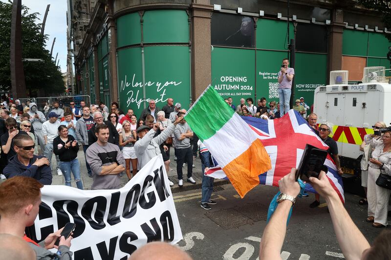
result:
M 315 89 L 326 85 L 326 81 L 326 54 L 296 53 L 294 99 L 303 97 L 305 103 L 311 106 Z

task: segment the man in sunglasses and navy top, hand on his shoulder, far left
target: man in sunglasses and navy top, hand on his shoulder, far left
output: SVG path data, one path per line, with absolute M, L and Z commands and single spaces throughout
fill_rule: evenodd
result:
M 14 138 L 13 149 L 16 155 L 13 156 L 3 173 L 7 179 L 15 176 L 31 177 L 43 185 L 52 184 L 52 171 L 49 167 L 49 160 L 42 155 L 34 155 L 34 141 L 29 135 L 18 135 Z

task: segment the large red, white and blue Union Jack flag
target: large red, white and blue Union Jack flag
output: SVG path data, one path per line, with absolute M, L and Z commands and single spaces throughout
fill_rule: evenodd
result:
M 255 131 L 270 156 L 272 168 L 259 176 L 260 184 L 278 186 L 278 181 L 290 172 L 292 167 L 298 167 L 305 145 L 311 144 L 327 150 L 328 146 L 316 135 L 298 112 L 291 109 L 280 119 L 263 120 L 253 117 L 242 117 L 250 128 Z M 344 188 L 341 176 L 330 155 L 327 155 L 325 165 L 328 168 L 327 177 L 331 186 L 344 202 Z M 213 167 L 205 175 L 227 179 L 221 168 Z M 313 187 L 305 184 L 305 191 L 315 193 Z

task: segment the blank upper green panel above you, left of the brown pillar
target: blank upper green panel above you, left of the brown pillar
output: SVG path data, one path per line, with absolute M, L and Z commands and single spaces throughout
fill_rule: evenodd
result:
M 143 19 L 144 42 L 189 42 L 189 22 L 185 11 L 146 11 Z

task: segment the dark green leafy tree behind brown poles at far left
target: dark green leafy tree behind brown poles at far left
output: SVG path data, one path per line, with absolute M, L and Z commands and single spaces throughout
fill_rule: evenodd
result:
M 64 93 L 65 85 L 61 72 L 44 48 L 47 35 L 41 35 L 41 23 L 38 13 L 29 13 L 29 8 L 22 6 L 22 58 L 42 59 L 23 61 L 26 82 L 26 96 L 41 93 Z M 10 42 L 11 42 L 12 4 L 0 2 L 0 90 L 11 91 Z M 21 95 L 23 97 L 24 95 Z

